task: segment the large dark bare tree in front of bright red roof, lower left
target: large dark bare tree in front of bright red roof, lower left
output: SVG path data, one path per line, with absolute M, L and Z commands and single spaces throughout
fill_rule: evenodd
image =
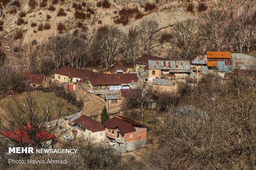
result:
M 55 105 L 54 105 L 55 104 Z M 39 103 L 31 92 L 24 95 L 24 100 L 13 98 L 6 103 L 7 112 L 4 116 L 5 131 L 19 129 L 21 134 L 26 134 L 29 141 L 15 138 L 12 134 L 1 135 L 5 140 L 12 142 L 14 146 L 25 146 L 27 142 L 38 148 L 48 148 L 50 142 L 45 142 L 48 133 L 55 136 L 55 142 L 65 132 L 59 128 L 61 116 L 64 111 L 64 103 L 56 98 L 47 98 L 47 101 Z M 47 132 L 47 133 L 44 133 Z M 40 135 L 38 135 L 40 134 Z

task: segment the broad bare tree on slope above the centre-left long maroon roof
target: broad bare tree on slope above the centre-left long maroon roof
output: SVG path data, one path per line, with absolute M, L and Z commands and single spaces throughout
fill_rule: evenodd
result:
M 104 61 L 106 68 L 114 62 L 123 42 L 123 31 L 116 26 L 102 26 L 94 38 L 93 51 Z

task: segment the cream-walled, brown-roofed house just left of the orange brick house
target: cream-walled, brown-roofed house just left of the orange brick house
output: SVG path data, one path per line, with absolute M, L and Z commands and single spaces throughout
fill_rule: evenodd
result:
M 68 121 L 70 126 L 78 130 L 78 135 L 82 135 L 86 139 L 90 139 L 94 142 L 104 142 L 105 128 L 98 121 L 82 115 L 79 112 L 64 119 Z

